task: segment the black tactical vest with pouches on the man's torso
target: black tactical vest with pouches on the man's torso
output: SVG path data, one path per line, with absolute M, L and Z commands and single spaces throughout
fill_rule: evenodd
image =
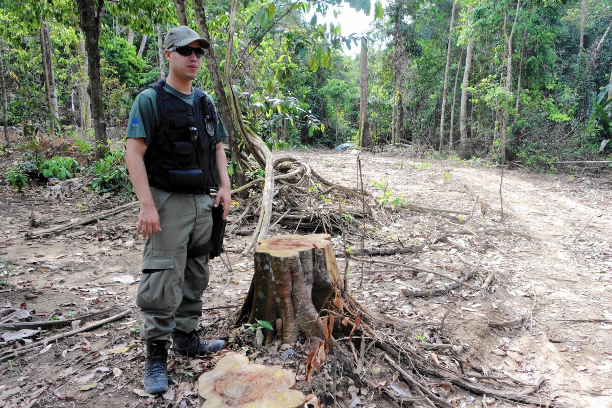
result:
M 194 87 L 193 106 L 168 94 L 161 80 L 147 86 L 157 92 L 162 125 L 144 154 L 151 187 L 205 194 L 218 187 L 215 157 L 217 113 L 211 98 Z

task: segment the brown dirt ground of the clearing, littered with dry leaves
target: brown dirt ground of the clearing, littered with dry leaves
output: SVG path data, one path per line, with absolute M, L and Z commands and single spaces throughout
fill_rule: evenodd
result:
M 310 150 L 275 155 L 300 158 L 328 180 L 357 187 L 357 156 L 350 152 Z M 0 159 L 0 168 L 13 165 L 17 157 Z M 569 406 L 612 407 L 610 179 L 506 171 L 505 220 L 501 223 L 498 168 L 414 158 L 401 151 L 366 153 L 361 161 L 364 185 L 372 200 L 382 193 L 373 187 L 376 181 L 387 186 L 390 198 L 468 212 L 451 219 L 401 208 L 375 211 L 376 220 L 367 237 L 370 247 L 376 242 L 381 248 L 420 247 L 415 255 L 377 259 L 406 262 L 455 277 L 465 270 L 478 276 L 470 288 L 438 297 L 408 297 L 406 290 L 449 282 L 426 273 L 415 275 L 398 272 L 398 267 L 351 261 L 349 283 L 360 302 L 381 313 L 422 322 L 403 332 L 388 327 L 395 338 L 427 342 L 437 330 L 463 346 L 460 358 L 464 363 L 469 360 L 483 377 L 507 376 L 523 388 L 545 379 L 539 390 L 543 402 L 548 398 Z M 133 311 L 95 330 L 2 360 L 0 408 L 198 406 L 195 379 L 211 369 L 219 356 L 172 357 L 171 393 L 155 399 L 138 395 L 144 349 L 135 306 L 144 245 L 135 236 L 138 209 L 57 236 L 27 240 L 24 236 L 29 231 L 83 218 L 118 203 L 85 194 L 62 197 L 61 192 L 41 187 L 16 193 L 7 185 L 0 186 L 0 197 L 0 257 L 11 270 L 4 278 L 10 286 L 0 290 L 1 308 L 24 308 L 35 321 L 66 319 L 116 306 Z M 230 223 L 239 208 L 233 210 Z M 32 219 L 33 228 L 29 225 Z M 275 226 L 272 233 L 293 231 Z M 352 237 L 349 243 L 357 246 L 358 238 Z M 252 256 L 239 254 L 247 242 L 247 236 L 226 242 L 233 272 L 218 258 L 211 262 L 214 272 L 204 293 L 201 333 L 229 339 L 229 349 L 247 352 L 258 362 L 298 366 L 298 387 L 323 398 L 329 388 L 310 390 L 297 357 L 284 362 L 278 355 L 234 341 L 237 332 L 231 327 L 231 314 L 244 299 L 253 273 Z M 335 237 L 333 242 L 343 270 L 341 239 Z M 490 275 L 493 283 L 479 289 Z M 428 322 L 433 321 L 442 321 L 443 327 L 432 330 Z M 499 321 L 515 322 L 488 324 Z M 34 340 L 62 330 L 42 330 Z M 0 352 L 10 347 L 2 344 Z M 454 361 L 442 352 L 436 359 Z M 381 387 L 397 379 L 384 377 L 388 369 L 371 370 L 378 372 Z M 338 390 L 339 395 L 351 393 L 348 388 Z M 453 386 L 444 390 L 444 398 L 458 407 L 517 406 Z M 380 394 L 379 390 L 362 389 L 346 406 L 394 406 Z

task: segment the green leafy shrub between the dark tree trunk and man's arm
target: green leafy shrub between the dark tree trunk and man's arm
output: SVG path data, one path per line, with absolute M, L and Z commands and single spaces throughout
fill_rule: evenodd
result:
M 125 167 L 125 153 L 122 150 L 113 150 L 104 158 L 95 161 L 88 169 L 94 179 L 91 187 L 97 193 L 120 193 L 132 188 L 127 168 Z

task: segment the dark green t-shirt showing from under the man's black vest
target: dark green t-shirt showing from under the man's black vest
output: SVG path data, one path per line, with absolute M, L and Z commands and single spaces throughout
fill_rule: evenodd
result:
M 164 91 L 168 94 L 174 95 L 180 98 L 183 102 L 193 106 L 193 97 L 195 91 L 191 94 L 183 94 L 182 92 L 176 91 L 173 87 L 168 84 L 163 86 Z M 206 94 L 206 92 L 204 92 Z M 210 98 L 210 95 L 206 94 Z M 146 88 L 140 94 L 136 95 L 132 110 L 130 111 L 130 118 L 127 121 L 127 133 L 128 138 L 145 138 L 147 146 L 151 144 L 155 128 L 161 126 L 162 117 L 159 115 L 157 110 L 157 92 L 155 89 Z M 223 126 L 221 117 L 217 112 L 217 129 L 215 130 L 215 143 L 220 143 L 227 139 L 228 133 Z

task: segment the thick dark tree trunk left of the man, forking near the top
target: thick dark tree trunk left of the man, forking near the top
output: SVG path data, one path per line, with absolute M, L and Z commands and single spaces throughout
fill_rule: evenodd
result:
M 96 157 L 103 158 L 106 151 L 106 119 L 102 102 L 102 81 L 100 80 L 100 24 L 104 10 L 104 0 L 95 3 L 89 0 L 76 0 L 81 21 L 81 29 L 85 34 L 85 46 L 88 54 L 89 98 L 94 119 L 95 141 L 97 144 Z

